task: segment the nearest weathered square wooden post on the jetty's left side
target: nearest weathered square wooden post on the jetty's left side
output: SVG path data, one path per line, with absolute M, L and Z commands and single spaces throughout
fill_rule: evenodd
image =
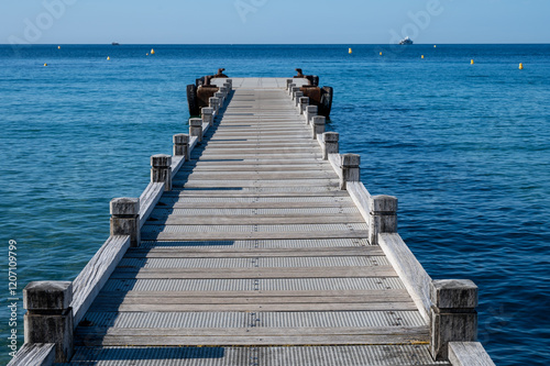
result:
M 74 352 L 73 282 L 35 281 L 23 289 L 25 343 L 55 343 L 55 362 L 67 363 Z

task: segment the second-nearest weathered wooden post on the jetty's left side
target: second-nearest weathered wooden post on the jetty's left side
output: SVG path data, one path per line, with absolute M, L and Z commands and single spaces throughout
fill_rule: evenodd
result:
M 129 235 L 130 246 L 140 246 L 140 199 L 127 197 L 114 198 L 110 202 L 110 211 L 111 236 Z

